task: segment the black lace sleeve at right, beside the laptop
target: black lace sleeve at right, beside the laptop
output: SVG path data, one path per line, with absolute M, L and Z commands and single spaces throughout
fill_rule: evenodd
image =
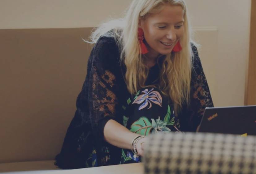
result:
M 210 89 L 204 74 L 197 48 L 192 45 L 193 70 L 191 77 L 190 104 L 183 109 L 183 131 L 195 132 L 206 107 L 214 107 Z

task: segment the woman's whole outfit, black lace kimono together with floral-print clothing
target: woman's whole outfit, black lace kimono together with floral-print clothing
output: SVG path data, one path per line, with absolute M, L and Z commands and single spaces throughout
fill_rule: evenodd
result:
M 72 169 L 120 164 L 129 162 L 129 158 L 139 161 L 129 151 L 104 140 L 103 129 L 110 119 L 142 135 L 158 131 L 196 131 L 205 107 L 213 107 L 213 102 L 193 43 L 191 49 L 190 102 L 182 106 L 179 115 L 174 115 L 172 103 L 156 88 L 139 89 L 137 96 L 131 96 L 124 80 L 126 67 L 120 63 L 122 49 L 114 38 L 100 37 L 89 56 L 86 78 L 76 100 L 76 112 L 55 165 Z M 150 68 L 147 85 L 158 83 L 160 68 L 160 64 Z

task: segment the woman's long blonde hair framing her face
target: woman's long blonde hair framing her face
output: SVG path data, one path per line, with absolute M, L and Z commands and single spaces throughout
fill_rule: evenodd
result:
M 147 14 L 160 12 L 165 4 L 181 6 L 184 12 L 184 34 L 180 38 L 182 50 L 165 56 L 158 85 L 163 94 L 171 98 L 177 114 L 183 104 L 189 104 L 193 60 L 190 45 L 192 39 L 183 0 L 133 0 L 125 17 L 103 23 L 92 33 L 90 43 L 96 43 L 100 36 L 115 38 L 121 48 L 120 60 L 127 68 L 125 80 L 128 91 L 135 94 L 137 90 L 145 87 L 149 71 L 141 57 L 141 47 L 137 39 L 139 19 L 145 19 Z

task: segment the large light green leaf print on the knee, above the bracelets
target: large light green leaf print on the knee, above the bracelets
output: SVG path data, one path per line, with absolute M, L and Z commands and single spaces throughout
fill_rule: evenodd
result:
M 146 136 L 150 133 L 151 129 L 153 129 L 153 126 L 149 119 L 147 117 L 141 117 L 132 123 L 130 131 Z

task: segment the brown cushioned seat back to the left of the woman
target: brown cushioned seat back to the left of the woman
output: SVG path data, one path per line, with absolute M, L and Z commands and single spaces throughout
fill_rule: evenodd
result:
M 0 30 L 0 163 L 59 153 L 92 48 L 82 38 L 91 30 Z

